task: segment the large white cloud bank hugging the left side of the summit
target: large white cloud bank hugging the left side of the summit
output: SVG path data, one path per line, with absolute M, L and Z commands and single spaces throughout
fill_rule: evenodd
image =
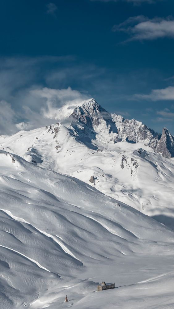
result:
M 11 135 L 19 130 L 30 130 L 57 121 L 70 124 L 68 117 L 89 95 L 66 89 L 37 88 L 25 91 L 24 105 L 14 111 L 11 104 L 0 101 L 0 134 Z M 31 104 L 32 102 L 32 104 Z M 17 120 L 23 120 L 17 123 Z M 67 120 L 68 119 L 68 120 Z

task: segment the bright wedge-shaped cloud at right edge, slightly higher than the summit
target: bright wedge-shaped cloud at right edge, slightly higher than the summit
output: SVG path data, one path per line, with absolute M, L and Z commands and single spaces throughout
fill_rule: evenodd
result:
M 153 89 L 148 95 L 135 94 L 133 97 L 137 99 L 149 99 L 152 101 L 174 100 L 174 87 L 169 86 L 164 89 Z

